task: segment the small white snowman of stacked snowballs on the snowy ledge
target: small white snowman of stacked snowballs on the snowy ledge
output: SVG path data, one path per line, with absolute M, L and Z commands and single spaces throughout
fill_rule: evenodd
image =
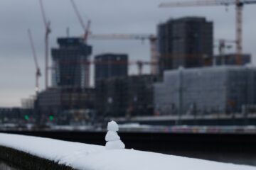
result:
M 117 131 L 119 130 L 118 125 L 113 120 L 107 124 L 107 135 L 105 137 L 106 140 L 106 149 L 124 149 L 125 145 L 120 140 Z

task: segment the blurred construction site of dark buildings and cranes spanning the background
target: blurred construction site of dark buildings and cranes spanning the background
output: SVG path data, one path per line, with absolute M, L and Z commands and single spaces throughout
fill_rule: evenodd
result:
M 256 69 L 251 64 L 253 56 L 243 52 L 242 12 L 256 1 L 178 1 L 156 6 L 234 6 L 235 36 L 228 40 L 215 39 L 214 21 L 203 16 L 170 18 L 155 26 L 156 33 L 95 34 L 90 30 L 92 21 L 82 18 L 82 7 L 79 9 L 75 0 L 70 0 L 82 31 L 76 37 L 67 32 L 57 38 L 58 47 L 49 45 L 50 20 L 43 1 L 39 0 L 39 4 L 45 27 L 45 67 L 42 72 L 32 31 L 28 30 L 36 66 L 35 95 L 23 101 L 23 108 L 0 108 L 3 123 L 23 119 L 22 122 L 38 125 L 94 125 L 115 119 L 161 125 L 161 118 L 165 118 L 169 120 L 166 125 L 199 125 L 195 121 L 198 119 L 200 125 L 208 125 L 212 115 L 218 120 L 210 125 L 218 125 L 221 118 L 225 119 L 223 125 L 254 125 Z M 129 60 L 125 52 L 92 56 L 90 40 L 145 41 L 150 56 L 148 60 Z M 137 74 L 129 74 L 131 66 L 137 68 Z M 145 67 L 149 74 L 145 74 Z M 39 84 L 42 76 L 43 88 Z M 8 115 L 11 118 L 5 118 Z M 241 121 L 235 121 L 236 116 Z

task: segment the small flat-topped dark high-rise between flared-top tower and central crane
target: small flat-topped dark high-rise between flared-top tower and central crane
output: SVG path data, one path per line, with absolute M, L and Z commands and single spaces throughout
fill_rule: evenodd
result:
M 107 53 L 95 56 L 95 81 L 127 75 L 128 55 Z

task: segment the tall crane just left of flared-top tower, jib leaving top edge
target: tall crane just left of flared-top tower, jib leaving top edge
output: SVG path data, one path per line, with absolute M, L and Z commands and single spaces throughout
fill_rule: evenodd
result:
M 41 13 L 43 16 L 43 24 L 45 26 L 45 57 L 46 57 L 46 66 L 45 66 L 45 83 L 46 83 L 46 89 L 48 89 L 48 51 L 49 51 L 49 35 L 50 35 L 50 21 L 47 20 L 46 18 L 46 12 L 43 8 L 43 0 L 39 0 L 39 4 L 41 7 Z

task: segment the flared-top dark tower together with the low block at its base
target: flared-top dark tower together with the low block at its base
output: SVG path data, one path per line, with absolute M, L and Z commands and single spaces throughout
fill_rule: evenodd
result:
M 53 87 L 41 91 L 35 105 L 41 121 L 50 115 L 56 123 L 70 123 L 76 114 L 85 115 L 95 106 L 95 90 L 89 88 L 92 47 L 82 38 L 58 38 L 57 42 L 59 47 L 51 50 Z

